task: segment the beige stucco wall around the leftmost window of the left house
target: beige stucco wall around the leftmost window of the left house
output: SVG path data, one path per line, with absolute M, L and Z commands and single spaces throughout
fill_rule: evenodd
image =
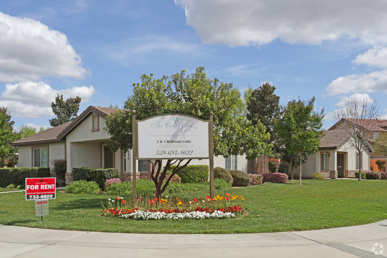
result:
M 19 146 L 19 167 L 31 167 L 31 154 L 32 148 L 38 146 L 48 146 L 48 166 L 51 166 L 51 162 L 54 159 L 64 159 L 65 158 L 65 143 L 52 143 L 52 144 L 35 144 L 35 145 L 26 145 Z M 32 147 L 32 148 L 31 148 Z

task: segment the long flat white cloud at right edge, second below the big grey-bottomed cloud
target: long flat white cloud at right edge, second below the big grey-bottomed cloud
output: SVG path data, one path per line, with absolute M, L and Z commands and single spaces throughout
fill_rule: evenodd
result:
M 387 91 L 387 70 L 341 76 L 331 82 L 326 91 L 328 96 L 354 92 Z

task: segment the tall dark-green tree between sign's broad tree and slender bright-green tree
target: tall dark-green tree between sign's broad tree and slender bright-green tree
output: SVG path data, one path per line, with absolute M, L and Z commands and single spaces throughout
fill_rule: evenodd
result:
M 281 117 L 281 108 L 279 96 L 274 94 L 275 90 L 274 85 L 271 86 L 266 82 L 251 92 L 247 104 L 247 119 L 251 120 L 253 125 L 260 122 L 266 127 L 266 132 L 270 133 L 270 141 L 274 145 L 272 154 L 278 156 L 279 152 L 282 152 L 282 148 L 275 131 L 275 123 Z

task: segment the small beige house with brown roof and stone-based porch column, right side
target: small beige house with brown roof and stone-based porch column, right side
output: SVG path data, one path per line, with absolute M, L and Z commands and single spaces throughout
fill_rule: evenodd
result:
M 337 137 L 337 135 L 341 137 Z M 358 170 L 358 152 L 349 145 L 343 130 L 324 131 L 324 136 L 320 139 L 319 150 L 309 156 L 308 161 L 302 164 L 302 178 L 312 178 L 313 173 L 321 173 L 325 178 L 354 178 Z M 370 169 L 371 145 L 360 155 L 360 169 L 367 171 Z M 284 162 L 286 164 L 286 162 Z M 289 171 L 290 171 L 289 167 Z M 300 166 L 293 171 L 294 177 L 300 176 Z

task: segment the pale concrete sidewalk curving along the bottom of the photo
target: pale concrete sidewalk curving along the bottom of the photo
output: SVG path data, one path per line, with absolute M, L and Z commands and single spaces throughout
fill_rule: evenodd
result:
M 1 257 L 387 257 L 387 220 L 257 234 L 125 234 L 0 225 Z M 383 246 L 381 248 L 381 245 Z M 385 252 L 382 253 L 382 249 Z

